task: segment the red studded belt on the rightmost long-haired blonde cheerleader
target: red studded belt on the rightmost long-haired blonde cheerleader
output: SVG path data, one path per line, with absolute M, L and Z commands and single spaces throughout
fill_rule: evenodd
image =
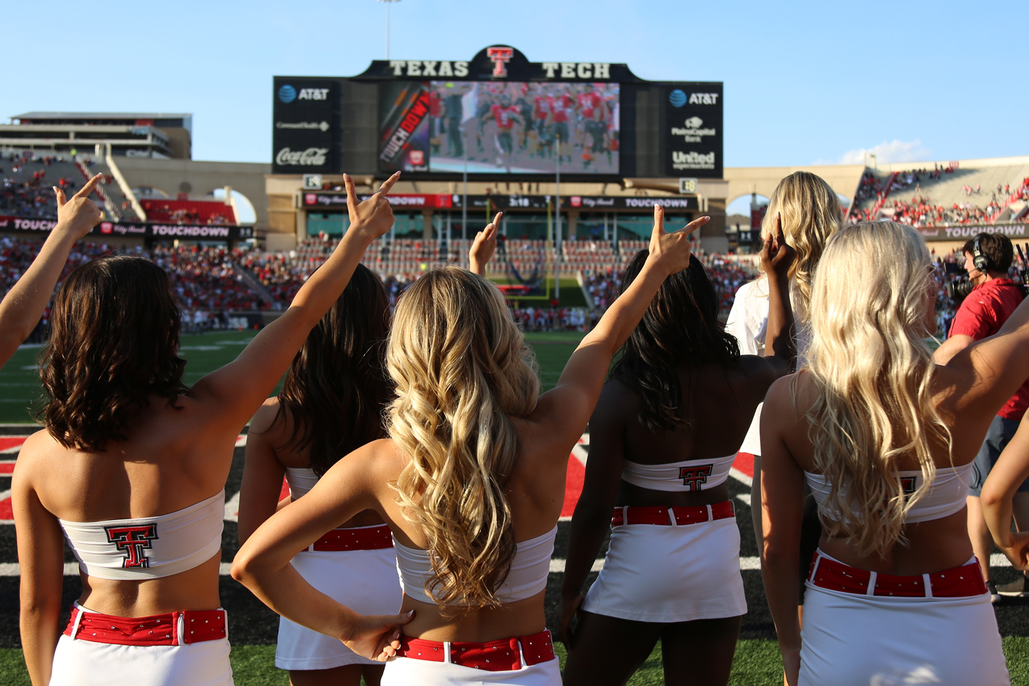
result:
M 808 581 L 819 588 L 858 595 L 893 595 L 894 598 L 967 598 L 986 592 L 979 563 L 934 572 L 902 576 L 878 574 L 845 565 L 815 551 Z

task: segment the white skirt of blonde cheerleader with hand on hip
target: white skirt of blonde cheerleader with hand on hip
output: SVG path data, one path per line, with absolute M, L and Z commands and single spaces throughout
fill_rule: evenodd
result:
M 429 662 L 394 657 L 386 662 L 382 686 L 561 686 L 561 663 L 557 657 L 521 670 L 486 672 L 450 662 Z

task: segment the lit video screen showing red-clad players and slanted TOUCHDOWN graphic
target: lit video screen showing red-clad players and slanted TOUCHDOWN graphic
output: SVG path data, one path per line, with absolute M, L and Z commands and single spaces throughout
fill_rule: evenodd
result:
M 617 83 L 393 81 L 379 98 L 379 169 L 617 174 Z

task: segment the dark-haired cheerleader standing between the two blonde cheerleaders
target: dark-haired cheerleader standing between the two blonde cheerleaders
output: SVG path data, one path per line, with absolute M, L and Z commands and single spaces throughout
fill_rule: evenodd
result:
M 693 258 L 662 285 L 604 385 L 562 584 L 569 686 L 625 684 L 659 640 L 666 684 L 729 683 L 747 603 L 725 480 L 754 408 L 793 358 L 793 251 L 781 224 L 774 240 L 761 250 L 768 357 L 740 355 Z M 623 291 L 646 259 L 643 250 L 630 263 Z M 608 531 L 604 569 L 583 600 Z

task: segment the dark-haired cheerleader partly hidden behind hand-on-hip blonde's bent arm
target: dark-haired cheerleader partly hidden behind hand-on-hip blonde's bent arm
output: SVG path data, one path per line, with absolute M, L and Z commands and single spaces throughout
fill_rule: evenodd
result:
M 296 502 L 344 455 L 382 438 L 389 401 L 383 346 L 389 331 L 389 296 L 382 281 L 358 264 L 343 295 L 311 330 L 286 373 L 282 392 L 250 423 L 240 491 L 240 543 L 275 513 L 283 474 Z M 293 567 L 312 585 L 364 614 L 400 608 L 400 582 L 389 528 L 375 510 L 346 521 L 308 550 Z M 275 664 L 289 670 L 293 686 L 379 684 L 383 665 L 335 639 L 279 621 Z

